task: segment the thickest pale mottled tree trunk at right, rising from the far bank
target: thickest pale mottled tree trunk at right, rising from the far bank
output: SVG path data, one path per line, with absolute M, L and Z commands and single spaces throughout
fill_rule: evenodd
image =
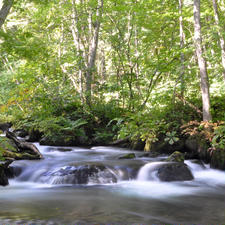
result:
M 196 54 L 198 58 L 198 66 L 199 66 L 200 77 L 201 77 L 203 121 L 209 121 L 212 119 L 212 116 L 210 113 L 210 94 L 209 94 L 208 73 L 207 73 L 206 61 L 203 57 L 203 49 L 202 49 L 201 24 L 200 24 L 200 0 L 194 0 L 194 42 L 195 42 L 195 49 L 196 49 Z

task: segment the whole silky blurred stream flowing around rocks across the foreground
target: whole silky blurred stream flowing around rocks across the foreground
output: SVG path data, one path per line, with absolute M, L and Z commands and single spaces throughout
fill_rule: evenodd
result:
M 194 180 L 160 182 L 164 157 L 36 145 L 45 159 L 14 162 L 19 176 L 0 187 L 0 224 L 225 224 L 225 172 L 186 161 Z M 77 184 L 82 168 L 94 173 Z

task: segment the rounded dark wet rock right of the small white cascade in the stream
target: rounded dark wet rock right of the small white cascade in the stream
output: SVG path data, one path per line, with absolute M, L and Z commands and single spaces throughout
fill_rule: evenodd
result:
M 157 169 L 156 176 L 161 181 L 187 181 L 194 177 L 187 165 L 184 163 L 165 163 Z

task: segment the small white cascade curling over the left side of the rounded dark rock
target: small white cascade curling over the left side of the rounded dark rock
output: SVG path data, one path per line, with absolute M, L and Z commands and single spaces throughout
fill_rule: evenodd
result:
M 157 168 L 166 162 L 150 162 L 145 164 L 137 175 L 138 181 L 159 180 L 156 176 Z

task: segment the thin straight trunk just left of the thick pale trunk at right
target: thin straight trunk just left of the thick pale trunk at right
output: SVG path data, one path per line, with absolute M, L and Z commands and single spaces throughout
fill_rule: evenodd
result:
M 184 29 L 183 29 L 183 15 L 182 15 L 182 9 L 183 9 L 183 0 L 179 0 L 179 22 L 180 22 L 180 48 L 181 50 L 184 49 Z M 181 82 L 181 96 L 184 96 L 184 53 L 181 52 L 180 54 L 180 82 Z

